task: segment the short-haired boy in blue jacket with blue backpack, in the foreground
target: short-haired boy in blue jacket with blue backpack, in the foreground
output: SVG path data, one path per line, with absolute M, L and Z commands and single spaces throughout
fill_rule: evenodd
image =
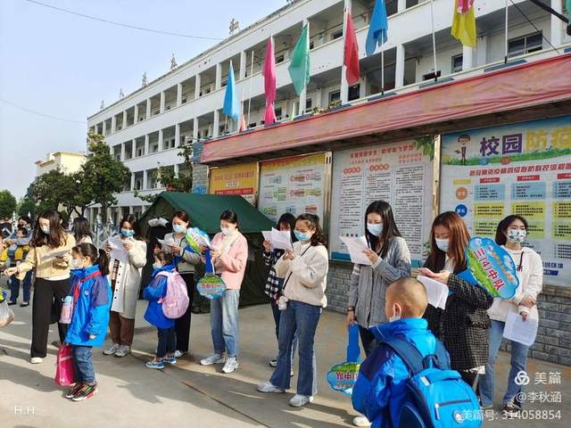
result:
M 482 426 L 476 394 L 450 370 L 450 358 L 422 318 L 423 284 L 401 278 L 385 294 L 389 323 L 370 330 L 380 342 L 360 366 L 352 392 L 355 410 L 373 428 Z

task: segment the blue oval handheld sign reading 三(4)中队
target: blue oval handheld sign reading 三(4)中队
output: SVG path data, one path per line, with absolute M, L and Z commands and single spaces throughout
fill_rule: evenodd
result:
M 459 278 L 479 284 L 492 296 L 508 300 L 514 297 L 519 279 L 508 251 L 489 238 L 472 238 L 466 249 L 468 269 Z

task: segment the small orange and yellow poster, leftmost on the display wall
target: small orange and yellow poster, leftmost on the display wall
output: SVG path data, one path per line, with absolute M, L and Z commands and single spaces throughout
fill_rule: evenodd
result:
M 209 189 L 212 194 L 239 194 L 255 205 L 257 187 L 256 162 L 211 169 Z

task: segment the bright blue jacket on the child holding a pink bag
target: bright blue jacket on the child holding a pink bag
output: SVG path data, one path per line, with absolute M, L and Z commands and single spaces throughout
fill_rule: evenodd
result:
M 78 300 L 73 307 L 71 323 L 65 342 L 76 346 L 103 346 L 107 325 L 109 325 L 109 310 L 111 309 L 112 290 L 109 280 L 99 272 L 99 265 L 88 268 L 71 270 L 72 284 L 70 295 L 73 297 L 75 287 L 79 287 Z M 95 335 L 90 340 L 89 335 Z

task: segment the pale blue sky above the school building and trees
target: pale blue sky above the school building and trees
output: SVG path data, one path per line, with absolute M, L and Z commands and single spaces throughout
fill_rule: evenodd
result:
M 285 0 L 38 0 L 74 12 L 201 37 L 228 37 Z M 202 53 L 212 40 L 173 37 L 0 0 L 0 190 L 21 198 L 48 152 L 85 151 L 87 116 Z M 2 101 L 4 100 L 4 101 Z M 8 103 L 55 118 L 22 111 Z M 78 123 L 79 122 L 79 123 Z

